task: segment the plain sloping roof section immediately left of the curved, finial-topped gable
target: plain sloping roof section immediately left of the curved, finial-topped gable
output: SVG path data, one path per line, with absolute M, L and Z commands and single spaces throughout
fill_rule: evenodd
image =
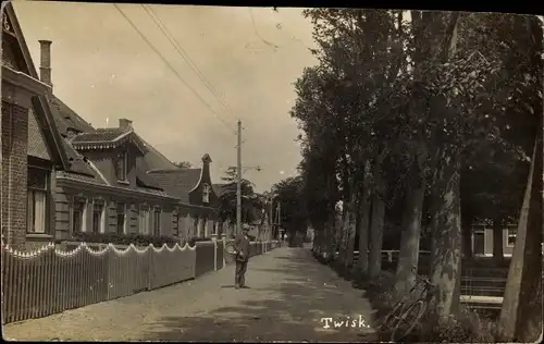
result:
M 189 202 L 189 192 L 198 185 L 202 169 L 148 171 L 166 193 L 180 198 L 182 202 Z

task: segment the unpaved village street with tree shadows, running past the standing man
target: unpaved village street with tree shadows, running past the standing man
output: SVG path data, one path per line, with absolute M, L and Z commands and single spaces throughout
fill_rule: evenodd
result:
M 10 323 L 4 327 L 4 337 L 228 342 L 374 339 L 368 327 L 368 300 L 329 267 L 314 261 L 307 248 L 282 247 L 252 258 L 247 290 L 235 290 L 233 280 L 231 265 L 186 283 Z M 334 329 L 333 322 L 338 325 L 341 321 L 342 328 Z M 325 322 L 329 329 L 324 329 Z

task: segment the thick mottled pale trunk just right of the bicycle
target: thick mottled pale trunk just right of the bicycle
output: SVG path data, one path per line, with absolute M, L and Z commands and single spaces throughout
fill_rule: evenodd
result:
M 460 156 L 456 145 L 447 145 L 440 155 L 436 173 L 433 223 L 432 283 L 437 286 L 434 306 L 438 320 L 446 319 L 458 308 L 461 278 L 461 214 L 459 171 Z

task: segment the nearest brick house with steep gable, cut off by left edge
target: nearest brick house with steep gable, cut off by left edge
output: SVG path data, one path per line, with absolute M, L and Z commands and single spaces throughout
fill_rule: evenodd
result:
M 11 3 L 2 14 L 2 242 L 26 249 L 51 238 L 54 175 L 70 162 Z

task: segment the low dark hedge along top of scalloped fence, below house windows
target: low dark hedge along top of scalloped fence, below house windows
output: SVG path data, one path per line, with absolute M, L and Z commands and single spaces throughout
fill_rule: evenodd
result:
M 118 233 L 73 233 L 72 237 L 78 242 L 95 243 L 95 244 L 114 244 L 114 245 L 138 245 L 148 246 L 152 244 L 156 247 L 161 247 L 166 244 L 172 247 L 177 243 L 177 239 L 171 236 L 154 236 L 141 234 L 118 234 Z

